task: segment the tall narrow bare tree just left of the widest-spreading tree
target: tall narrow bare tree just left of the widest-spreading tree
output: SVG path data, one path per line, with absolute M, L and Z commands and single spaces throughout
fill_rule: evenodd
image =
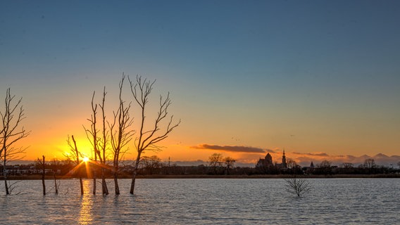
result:
M 116 112 L 113 113 L 113 123 L 108 123 L 110 129 L 110 140 L 113 154 L 113 178 L 115 194 L 120 194 L 120 188 L 118 185 L 118 172 L 120 167 L 120 161 L 123 160 L 123 156 L 127 152 L 127 144 L 132 140 L 135 131 L 129 129 L 132 126 L 133 119 L 129 115 L 130 104 L 125 105 L 122 98 L 123 93 L 123 82 L 125 75 L 120 81 L 120 105 Z

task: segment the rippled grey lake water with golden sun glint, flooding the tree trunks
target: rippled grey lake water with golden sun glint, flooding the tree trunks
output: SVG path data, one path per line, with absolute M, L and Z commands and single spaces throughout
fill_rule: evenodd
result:
M 302 198 L 283 179 L 139 179 L 135 195 L 121 179 L 119 196 L 112 181 L 107 196 L 92 195 L 91 180 L 83 196 L 78 180 L 45 196 L 42 181 L 20 181 L 0 195 L 0 224 L 400 224 L 400 179 L 308 181 Z

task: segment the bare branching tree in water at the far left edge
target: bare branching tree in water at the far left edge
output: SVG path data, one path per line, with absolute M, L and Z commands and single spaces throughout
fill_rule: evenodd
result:
M 0 127 L 0 158 L 3 162 L 3 176 L 4 186 L 6 188 L 6 195 L 10 194 L 7 183 L 7 169 L 6 165 L 12 160 L 20 158 L 21 153 L 25 153 L 26 148 L 15 147 L 15 143 L 24 139 L 30 134 L 24 127 L 20 127 L 21 122 L 25 119 L 23 110 L 22 99 L 15 99 L 11 96 L 11 89 L 6 91 L 5 108 L 4 112 L 0 111 L 1 127 Z

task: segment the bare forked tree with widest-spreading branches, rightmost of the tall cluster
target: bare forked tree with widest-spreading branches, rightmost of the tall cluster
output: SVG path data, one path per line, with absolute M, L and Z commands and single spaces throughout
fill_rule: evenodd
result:
M 170 116 L 169 117 L 170 120 L 165 125 L 165 129 L 161 129 L 162 122 L 165 119 L 168 120 L 167 117 L 168 108 L 171 104 L 170 94 L 168 93 L 166 98 L 160 96 L 160 101 L 159 101 L 160 105 L 158 107 L 158 114 L 156 118 L 153 120 L 152 125 L 146 128 L 145 124 L 147 124 L 149 120 L 146 120 L 148 117 L 145 116 L 146 115 L 145 110 L 149 103 L 149 96 L 153 89 L 153 84 L 156 82 L 156 80 L 151 82 L 147 79 L 142 79 L 141 76 L 136 76 L 136 81 L 132 81 L 129 77 L 128 79 L 130 82 L 130 90 L 132 92 L 133 98 L 135 98 L 135 101 L 137 105 L 139 105 L 139 108 L 141 110 L 140 120 L 139 120 L 139 127 L 140 127 L 139 134 L 135 139 L 135 148 L 137 150 L 137 157 L 135 160 L 135 167 L 132 174 L 132 183 L 130 186 L 130 193 L 133 194 L 135 190 L 137 169 L 139 168 L 139 162 L 142 153 L 144 153 L 145 150 L 155 150 L 155 151 L 161 150 L 161 148 L 156 144 L 166 139 L 168 137 L 168 134 L 170 134 L 170 132 L 172 132 L 173 129 L 175 129 L 175 127 L 179 126 L 180 120 L 179 122 L 174 122 L 173 116 Z

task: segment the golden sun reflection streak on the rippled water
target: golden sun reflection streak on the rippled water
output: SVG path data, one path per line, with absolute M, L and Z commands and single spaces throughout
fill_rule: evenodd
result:
M 93 198 L 90 195 L 90 181 L 83 180 L 83 191 L 85 192 L 82 195 L 81 204 L 80 204 L 80 213 L 79 213 L 79 224 L 92 224 L 93 221 Z

